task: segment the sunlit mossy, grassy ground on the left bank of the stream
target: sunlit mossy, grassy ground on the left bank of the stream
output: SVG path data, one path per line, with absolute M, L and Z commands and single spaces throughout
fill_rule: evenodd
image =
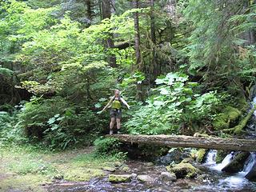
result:
M 104 176 L 122 161 L 97 157 L 92 147 L 52 152 L 30 146 L 0 147 L 0 191 L 46 191 L 54 182 Z

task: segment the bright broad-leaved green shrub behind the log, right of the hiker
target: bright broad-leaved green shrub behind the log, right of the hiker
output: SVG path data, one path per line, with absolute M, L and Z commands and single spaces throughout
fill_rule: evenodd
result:
M 126 122 L 130 134 L 175 134 L 182 125 L 212 119 L 221 100 L 216 92 L 198 94 L 198 83 L 186 74 L 169 73 L 155 82 L 146 106 Z

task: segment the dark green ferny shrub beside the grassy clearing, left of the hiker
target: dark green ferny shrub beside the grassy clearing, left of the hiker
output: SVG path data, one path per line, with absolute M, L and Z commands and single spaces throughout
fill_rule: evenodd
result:
M 88 145 L 104 124 L 90 109 L 61 97 L 32 98 L 18 118 L 30 141 L 62 149 L 74 144 Z

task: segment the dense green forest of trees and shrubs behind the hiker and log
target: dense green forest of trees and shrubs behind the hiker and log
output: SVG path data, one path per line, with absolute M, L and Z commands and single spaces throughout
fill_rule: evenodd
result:
M 255 0 L 2 0 L 0 141 L 90 144 L 114 89 L 124 133 L 243 134 L 255 13 Z

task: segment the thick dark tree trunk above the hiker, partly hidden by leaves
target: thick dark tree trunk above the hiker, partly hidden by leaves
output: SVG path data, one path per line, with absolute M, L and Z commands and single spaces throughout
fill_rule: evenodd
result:
M 111 18 L 111 0 L 102 0 L 102 19 Z M 114 48 L 113 34 L 110 34 L 110 38 L 106 39 L 106 47 Z M 109 63 L 111 67 L 117 67 L 117 62 L 114 54 L 110 54 Z

